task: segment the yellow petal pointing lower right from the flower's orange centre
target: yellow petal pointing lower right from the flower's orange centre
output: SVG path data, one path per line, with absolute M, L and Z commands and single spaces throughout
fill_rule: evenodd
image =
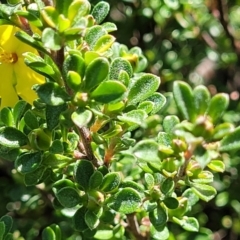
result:
M 32 86 L 34 84 L 44 83 L 44 77 L 27 67 L 22 59 L 18 59 L 18 61 L 14 64 L 14 72 L 17 79 L 17 94 L 23 100 L 32 104 L 37 98 L 37 94 L 32 90 Z

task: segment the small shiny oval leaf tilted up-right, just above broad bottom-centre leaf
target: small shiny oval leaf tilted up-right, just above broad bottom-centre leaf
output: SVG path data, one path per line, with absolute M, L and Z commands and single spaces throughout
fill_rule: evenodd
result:
M 118 188 L 120 183 L 121 183 L 120 175 L 118 173 L 111 172 L 103 177 L 100 189 L 105 193 L 113 192 Z

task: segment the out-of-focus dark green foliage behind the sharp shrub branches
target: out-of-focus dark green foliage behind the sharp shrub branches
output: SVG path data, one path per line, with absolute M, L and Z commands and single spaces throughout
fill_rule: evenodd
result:
M 4 1 L 2 1 L 4 2 Z M 97 0 L 90 1 L 93 5 Z M 108 21 L 114 22 L 117 41 L 128 47 L 139 46 L 148 59 L 148 72 L 161 77 L 160 92 L 169 104 L 160 116 L 149 120 L 148 128 L 135 132 L 136 138 L 154 135 L 161 119 L 176 113 L 171 102 L 172 83 L 184 80 L 192 86 L 203 84 L 212 95 L 230 94 L 231 104 L 224 119 L 240 122 L 240 0 L 109 0 Z M 232 154 L 233 155 L 233 154 Z M 215 175 L 218 195 L 209 203 L 198 203 L 192 215 L 202 233 L 183 232 L 170 226 L 171 239 L 240 239 L 240 157 L 225 156 L 226 171 Z M 0 215 L 12 212 L 14 228 L 26 233 L 26 239 L 40 239 L 41 228 L 60 222 L 63 239 L 71 236 L 69 224 L 53 211 L 49 196 L 38 188 L 25 187 L 21 176 L 0 162 Z M 130 166 L 131 168 L 131 166 Z M 127 169 L 125 169 L 127 171 Z M 46 200 L 46 201 L 45 201 Z M 28 216 L 28 217 L 26 217 Z M 54 218 L 54 220 L 53 220 Z M 32 220 L 32 221 L 30 221 Z M 15 239 L 21 239 L 15 231 Z M 72 236 L 71 239 L 78 239 Z

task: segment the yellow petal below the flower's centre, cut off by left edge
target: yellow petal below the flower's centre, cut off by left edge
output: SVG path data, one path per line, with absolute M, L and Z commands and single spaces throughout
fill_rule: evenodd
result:
M 3 107 L 13 107 L 17 101 L 18 96 L 14 89 L 14 72 L 13 67 L 10 64 L 1 64 L 0 72 L 4 73 L 0 80 L 0 97 L 1 106 Z

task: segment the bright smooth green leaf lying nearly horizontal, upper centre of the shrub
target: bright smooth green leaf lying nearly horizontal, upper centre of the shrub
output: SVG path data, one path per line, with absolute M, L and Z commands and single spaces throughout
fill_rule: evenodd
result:
M 100 103 L 110 103 L 121 98 L 126 92 L 126 87 L 117 81 L 104 81 L 91 93 L 91 97 Z

